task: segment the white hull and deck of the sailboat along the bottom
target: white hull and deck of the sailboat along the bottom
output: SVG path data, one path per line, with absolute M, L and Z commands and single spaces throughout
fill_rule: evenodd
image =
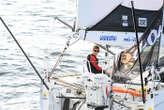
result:
M 102 110 L 110 110 L 110 103 L 112 102 L 109 97 L 106 96 L 106 94 L 99 92 L 98 89 L 95 89 L 94 91 L 91 91 L 92 93 L 89 95 L 94 95 L 94 97 L 87 97 L 84 92 L 87 92 L 89 90 L 85 89 L 85 91 L 81 90 L 80 94 L 77 93 L 79 90 L 77 89 L 81 84 L 84 84 L 84 78 L 80 75 L 70 76 L 70 77 L 59 77 L 55 79 L 51 79 L 50 83 L 48 83 L 50 90 L 47 91 L 44 86 L 41 88 L 41 110 L 95 110 L 94 107 L 88 106 L 88 103 L 97 103 L 97 104 L 103 104 L 101 101 L 106 100 L 107 108 L 104 108 Z M 83 81 L 82 81 L 83 80 Z M 70 82 L 70 83 L 66 83 Z M 89 82 L 90 83 L 90 82 Z M 86 84 L 86 83 L 85 83 Z M 93 83 L 92 83 L 93 84 Z M 90 85 L 92 85 L 90 83 Z M 96 85 L 96 84 L 95 84 Z M 152 89 L 153 83 L 149 83 L 146 87 L 146 90 Z M 87 86 L 87 85 L 85 85 Z M 93 85 L 92 85 L 93 86 Z M 123 84 L 114 84 L 114 86 L 122 86 L 125 87 L 127 85 Z M 96 87 L 96 86 L 95 86 Z M 108 87 L 110 87 L 110 83 L 108 83 Z M 132 86 L 131 86 L 132 87 Z M 103 88 L 103 87 L 101 87 Z M 133 89 L 140 88 L 140 86 L 133 86 Z M 113 102 L 112 104 L 112 110 L 162 110 L 164 108 L 164 88 L 163 83 L 161 84 L 161 87 L 158 90 L 150 90 L 151 92 L 147 91 L 146 94 L 146 103 L 142 103 L 141 97 L 132 96 L 130 94 L 124 94 L 124 93 L 113 93 L 113 99 L 116 102 Z M 108 89 L 109 90 L 109 89 Z M 101 95 L 103 95 L 103 100 L 101 99 Z M 105 97 L 106 99 L 105 99 Z M 126 96 L 127 99 L 124 99 Z M 66 100 L 70 98 L 70 100 Z M 91 98 L 89 101 L 85 98 Z M 92 100 L 93 99 L 93 100 Z M 100 101 L 100 102 L 98 102 Z M 103 101 L 104 102 L 104 101 Z M 121 103 L 123 105 L 117 104 Z M 106 106 L 104 105 L 104 106 Z

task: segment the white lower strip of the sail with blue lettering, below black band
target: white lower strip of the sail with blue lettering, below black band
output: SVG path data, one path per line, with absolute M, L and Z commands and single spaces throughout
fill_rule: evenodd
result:
M 139 38 L 142 33 L 139 33 Z M 98 44 L 108 44 L 128 48 L 136 43 L 136 36 L 133 32 L 111 32 L 111 31 L 88 31 L 85 38 L 85 31 L 80 31 L 80 37 L 84 40 Z

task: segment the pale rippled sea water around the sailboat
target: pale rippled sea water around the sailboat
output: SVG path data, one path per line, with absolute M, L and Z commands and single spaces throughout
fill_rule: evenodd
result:
M 0 16 L 44 77 L 44 72 L 49 72 L 56 63 L 71 32 L 54 17 L 72 25 L 76 3 L 75 0 L 1 0 Z M 83 41 L 71 46 L 54 74 L 81 73 L 83 60 L 92 46 Z M 39 110 L 39 93 L 40 79 L 0 22 L 0 110 Z

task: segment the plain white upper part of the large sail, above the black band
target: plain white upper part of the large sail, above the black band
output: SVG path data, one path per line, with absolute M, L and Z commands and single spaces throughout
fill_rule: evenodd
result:
M 159 10 L 163 0 L 133 0 L 135 9 Z M 119 5 L 131 8 L 131 0 L 79 0 L 78 25 L 91 27 Z

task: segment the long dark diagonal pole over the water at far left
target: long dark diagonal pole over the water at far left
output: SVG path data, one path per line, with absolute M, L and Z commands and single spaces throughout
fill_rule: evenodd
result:
M 14 39 L 14 41 L 16 42 L 16 44 L 18 45 L 18 47 L 20 48 L 20 50 L 22 51 L 22 53 L 24 54 L 24 56 L 27 58 L 28 62 L 30 63 L 30 65 L 32 66 L 32 68 L 34 69 L 34 71 L 36 72 L 36 74 L 39 76 L 40 80 L 42 81 L 42 83 L 44 84 L 44 86 L 46 87 L 46 89 L 49 90 L 49 87 L 47 86 L 47 84 L 45 83 L 45 81 L 43 80 L 43 78 L 41 77 L 41 75 L 39 74 L 38 70 L 35 68 L 35 66 L 31 62 L 31 60 L 29 59 L 29 57 L 27 56 L 27 54 L 25 53 L 25 51 L 23 50 L 23 48 L 21 47 L 21 45 L 19 44 L 19 42 L 17 41 L 17 39 L 14 37 L 14 35 L 12 34 L 12 32 L 10 31 L 10 29 L 8 28 L 8 26 L 6 25 L 6 23 L 2 19 L 2 17 L 0 17 L 0 20 L 2 21 L 3 25 L 5 26 L 5 28 L 7 29 L 7 31 L 10 33 L 10 35 L 12 36 L 12 38 Z

